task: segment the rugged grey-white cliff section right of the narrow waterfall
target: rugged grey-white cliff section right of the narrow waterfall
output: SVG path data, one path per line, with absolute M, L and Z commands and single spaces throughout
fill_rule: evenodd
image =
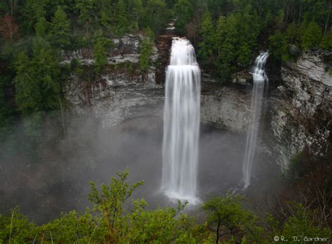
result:
M 270 97 L 271 134 L 277 162 L 287 168 L 291 157 L 308 146 L 317 156 L 331 144 L 332 76 L 328 52 L 307 52 L 282 66 L 284 85 Z

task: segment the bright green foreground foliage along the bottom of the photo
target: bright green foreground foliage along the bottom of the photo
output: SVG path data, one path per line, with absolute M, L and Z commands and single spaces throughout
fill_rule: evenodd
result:
M 92 208 L 85 213 L 71 211 L 41 226 L 29 222 L 18 208 L 0 215 L 0 240 L 4 243 L 271 243 L 274 236 L 321 236 L 329 238 L 326 227 L 312 219 L 314 213 L 299 203 L 287 203 L 291 211 L 286 220 L 267 214 L 257 217 L 241 206 L 242 196 L 227 193 L 213 196 L 202 204 L 207 214 L 204 224 L 183 213 L 185 203 L 177 208 L 148 210 L 144 199 L 125 202 L 142 181 L 130 185 L 128 170 L 117 173 L 109 185 L 97 189 L 91 182 L 89 200 Z

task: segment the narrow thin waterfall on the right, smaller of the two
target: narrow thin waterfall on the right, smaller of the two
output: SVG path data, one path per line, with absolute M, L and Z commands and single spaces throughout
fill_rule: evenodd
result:
M 244 153 L 242 168 L 244 188 L 247 188 L 250 185 L 251 168 L 256 152 L 259 122 L 261 120 L 262 113 L 264 83 L 265 81 L 268 82 L 268 77 L 264 71 L 266 59 L 268 59 L 268 52 L 261 52 L 261 54 L 256 58 L 252 73 L 254 88 L 251 97 L 251 121 L 249 124 L 247 145 Z

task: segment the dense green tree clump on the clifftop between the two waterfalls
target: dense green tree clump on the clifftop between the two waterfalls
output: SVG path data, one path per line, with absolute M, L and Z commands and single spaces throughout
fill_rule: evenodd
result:
M 251 64 L 259 33 L 258 19 L 250 10 L 232 13 L 227 17 L 221 15 L 215 32 L 211 22 L 209 13 L 206 13 L 200 30 L 202 41 L 199 43 L 198 55 L 203 59 L 203 64 L 206 59 L 211 60 L 205 65 L 210 69 L 214 67 L 212 72 L 225 82 L 231 73 Z

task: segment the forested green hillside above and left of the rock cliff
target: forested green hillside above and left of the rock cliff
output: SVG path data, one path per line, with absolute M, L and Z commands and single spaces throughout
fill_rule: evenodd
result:
M 60 67 L 62 50 L 91 48 L 99 73 L 112 38 L 138 31 L 155 36 L 175 18 L 177 34 L 191 39 L 202 69 L 227 82 L 261 49 L 275 62 L 313 48 L 331 50 L 331 6 L 331 0 L 2 1 L 0 128 L 11 115 L 60 108 L 74 69 Z M 148 66 L 149 45 L 142 45 L 141 69 Z

